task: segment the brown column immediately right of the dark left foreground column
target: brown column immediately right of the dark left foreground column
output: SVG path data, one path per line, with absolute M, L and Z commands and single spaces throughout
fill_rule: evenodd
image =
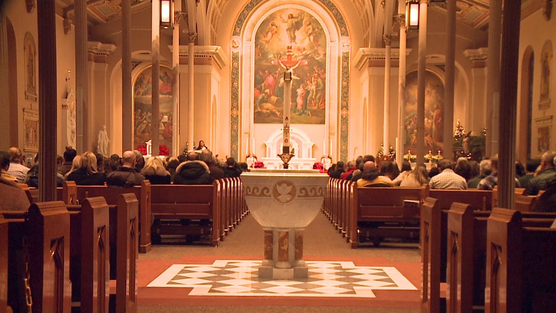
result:
M 75 82 L 77 153 L 88 150 L 87 143 L 87 3 L 75 1 Z

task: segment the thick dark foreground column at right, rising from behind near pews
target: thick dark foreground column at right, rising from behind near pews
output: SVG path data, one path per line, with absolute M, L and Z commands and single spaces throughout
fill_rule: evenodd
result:
M 521 0 L 504 0 L 500 69 L 500 128 L 498 156 L 498 206 L 515 206 L 515 129 L 518 110 L 519 26 Z M 517 22 L 516 22 L 517 21 Z M 490 56 L 489 56 L 490 57 Z

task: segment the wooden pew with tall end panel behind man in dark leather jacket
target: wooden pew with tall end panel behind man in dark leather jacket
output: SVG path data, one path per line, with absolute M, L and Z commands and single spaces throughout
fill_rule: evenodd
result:
M 120 194 L 133 193 L 139 200 L 139 252 L 147 253 L 151 251 L 151 183 L 143 180 L 141 186 L 134 186 L 125 189 L 112 188 L 107 186 L 77 186 L 76 203 L 87 197 L 104 197 L 109 205 L 117 204 Z M 68 184 L 68 194 L 62 194 L 62 198 L 71 203 L 73 189 Z

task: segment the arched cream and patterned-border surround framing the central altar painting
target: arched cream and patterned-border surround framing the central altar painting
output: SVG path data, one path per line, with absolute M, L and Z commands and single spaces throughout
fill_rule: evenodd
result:
M 237 153 L 242 153 L 247 151 L 246 147 L 241 148 L 240 145 L 246 143 L 252 143 L 255 141 L 255 134 L 257 137 L 267 138 L 272 132 L 279 128 L 280 120 L 280 109 L 283 108 L 283 104 L 266 105 L 268 108 L 265 109 L 272 116 L 273 120 L 257 120 L 255 121 L 255 114 L 259 107 L 255 106 L 255 100 L 258 95 L 256 95 L 255 81 L 257 79 L 255 67 L 256 60 L 259 56 L 260 51 L 260 37 L 257 37 L 257 31 L 259 28 L 266 30 L 269 25 L 264 24 L 268 17 L 272 17 L 272 14 L 279 14 L 281 11 L 295 10 L 292 12 L 293 16 L 299 16 L 299 12 L 304 12 L 307 16 L 316 21 L 321 27 L 322 31 L 325 32 L 326 37 L 326 48 L 324 54 L 326 55 L 326 60 L 323 62 L 323 70 L 325 74 L 325 87 L 324 87 L 324 99 L 323 104 L 324 118 L 319 121 L 319 123 L 312 122 L 302 122 L 304 124 L 296 124 L 295 120 L 292 124 L 296 125 L 298 128 L 303 129 L 307 134 L 309 134 L 313 141 L 323 145 L 317 147 L 317 149 L 324 153 L 324 143 L 329 142 L 329 121 L 335 121 L 339 118 L 340 111 L 342 113 L 342 118 L 340 119 L 340 129 L 336 133 L 339 136 L 334 139 L 335 142 L 340 141 L 340 146 L 347 146 L 347 126 L 348 114 L 349 114 L 349 57 L 350 57 L 350 40 L 349 34 L 347 33 L 347 27 L 345 21 L 341 16 L 341 13 L 336 9 L 334 3 L 332 2 L 318 2 L 318 1 L 300 1 L 292 0 L 288 4 L 282 4 L 281 1 L 261 1 L 252 0 L 246 4 L 244 11 L 246 14 L 240 14 L 240 17 L 235 23 L 235 28 L 233 31 L 231 46 L 231 108 L 230 108 L 230 151 L 231 155 L 234 156 Z M 289 14 L 288 21 L 290 19 Z M 283 23 L 280 25 L 283 28 L 284 33 L 286 27 L 289 27 L 289 22 L 283 18 Z M 304 23 L 307 19 L 303 20 Z M 316 26 L 316 25 L 315 25 Z M 305 28 L 299 28 L 300 31 L 297 32 L 298 36 L 303 36 L 302 32 L 305 32 Z M 274 34 L 276 35 L 276 34 Z M 270 36 L 272 37 L 272 36 Z M 296 57 L 302 57 L 304 51 L 300 50 L 300 45 L 296 45 L 296 41 L 289 37 L 290 42 L 293 43 L 294 60 Z M 280 59 L 285 57 L 286 45 L 284 45 L 283 53 L 280 55 L 272 55 L 274 59 Z M 297 55 L 296 55 L 297 54 Z M 301 60 L 301 58 L 297 58 Z M 280 72 L 281 74 L 281 72 Z M 324 75 L 323 75 L 324 76 Z M 294 85 L 295 86 L 295 85 Z M 341 88 L 340 86 L 344 86 Z M 346 87 L 347 86 L 347 87 Z M 301 88 L 300 86 L 298 86 Z M 261 90 L 259 91 L 259 95 Z M 295 95 L 297 89 L 292 92 L 292 106 L 295 106 Z M 272 95 L 274 96 L 274 95 Z M 299 109 L 299 108 L 298 108 Z M 260 114 L 260 109 L 259 113 Z M 309 115 L 309 114 L 307 114 Z M 312 116 L 312 115 L 311 115 Z M 260 123 L 260 122 L 264 123 Z M 276 123 L 276 124 L 274 124 Z M 250 140 L 249 140 L 250 139 Z M 257 140 L 258 141 L 258 140 Z M 259 141 L 260 142 L 260 141 Z M 338 146 L 338 145 L 336 145 Z M 262 153 L 262 145 L 255 146 L 255 154 Z M 259 149 L 259 150 L 257 150 Z M 346 155 L 347 158 L 347 155 Z

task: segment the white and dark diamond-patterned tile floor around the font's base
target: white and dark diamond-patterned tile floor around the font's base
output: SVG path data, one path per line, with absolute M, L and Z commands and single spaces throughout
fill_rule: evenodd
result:
M 147 287 L 193 288 L 190 296 L 368 297 L 373 290 L 417 290 L 395 267 L 353 262 L 306 261 L 301 280 L 259 278 L 261 261 L 216 260 L 211 265 L 174 264 Z

